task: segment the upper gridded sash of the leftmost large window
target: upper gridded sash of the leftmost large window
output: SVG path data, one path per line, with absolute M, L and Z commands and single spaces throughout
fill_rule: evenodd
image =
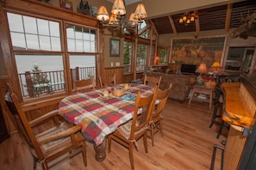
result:
M 59 22 L 8 13 L 14 50 L 60 52 Z

